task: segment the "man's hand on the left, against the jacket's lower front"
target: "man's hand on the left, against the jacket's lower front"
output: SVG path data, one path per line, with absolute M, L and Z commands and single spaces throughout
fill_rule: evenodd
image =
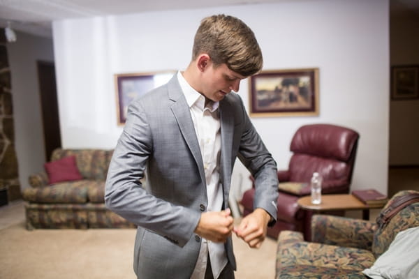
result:
M 209 241 L 226 242 L 233 232 L 233 217 L 230 209 L 202 213 L 195 232 Z

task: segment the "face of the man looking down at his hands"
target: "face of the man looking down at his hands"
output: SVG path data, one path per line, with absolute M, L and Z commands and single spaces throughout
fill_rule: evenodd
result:
M 214 68 L 214 64 L 209 61 L 203 75 L 202 92 L 205 97 L 214 102 L 223 100 L 231 91 L 239 91 L 240 81 L 244 76 L 230 70 L 226 64 L 221 64 Z

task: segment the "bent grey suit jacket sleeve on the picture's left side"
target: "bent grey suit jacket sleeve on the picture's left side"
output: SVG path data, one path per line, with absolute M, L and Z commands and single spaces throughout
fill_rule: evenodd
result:
M 175 240 L 179 246 L 191 238 L 200 213 L 150 195 L 142 187 L 153 139 L 147 116 L 139 100 L 128 108 L 124 131 L 108 169 L 105 203 L 127 220 Z

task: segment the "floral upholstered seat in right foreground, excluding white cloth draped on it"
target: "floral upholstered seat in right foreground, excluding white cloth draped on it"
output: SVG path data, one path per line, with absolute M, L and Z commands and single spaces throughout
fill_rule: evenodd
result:
M 383 210 L 406 193 L 418 192 L 400 191 Z M 367 278 L 362 271 L 388 250 L 397 233 L 418 226 L 419 202 L 399 211 L 385 227 L 367 220 L 315 215 L 313 242 L 304 241 L 300 232 L 279 235 L 276 278 Z

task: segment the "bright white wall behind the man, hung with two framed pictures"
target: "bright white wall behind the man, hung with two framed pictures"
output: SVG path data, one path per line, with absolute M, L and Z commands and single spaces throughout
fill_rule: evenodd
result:
M 115 73 L 183 69 L 200 20 L 240 17 L 256 33 L 265 70 L 320 69 L 320 115 L 253 119 L 285 168 L 291 137 L 307 123 L 358 130 L 353 188 L 387 192 L 388 1 L 289 1 L 54 22 L 54 52 L 64 147 L 115 146 Z M 248 86 L 239 91 L 248 102 Z M 240 168 L 242 169 L 242 168 Z

